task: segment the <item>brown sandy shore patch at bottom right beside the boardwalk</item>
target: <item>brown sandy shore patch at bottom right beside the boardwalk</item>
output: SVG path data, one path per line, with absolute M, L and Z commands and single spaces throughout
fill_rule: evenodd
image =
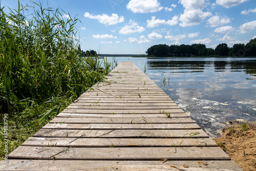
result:
M 213 140 L 243 170 L 256 170 L 256 121 L 229 121 Z

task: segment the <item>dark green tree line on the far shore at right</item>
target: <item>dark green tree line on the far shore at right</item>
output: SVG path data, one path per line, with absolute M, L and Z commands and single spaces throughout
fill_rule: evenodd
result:
M 192 45 L 154 45 L 147 49 L 148 56 L 256 56 L 256 38 L 251 39 L 246 45 L 219 44 L 215 49 L 206 48 L 203 44 Z

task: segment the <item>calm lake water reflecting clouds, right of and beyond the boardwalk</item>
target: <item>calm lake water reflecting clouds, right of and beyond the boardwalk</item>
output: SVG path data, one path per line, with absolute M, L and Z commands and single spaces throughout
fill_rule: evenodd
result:
M 112 60 L 111 57 L 108 60 Z M 169 60 L 169 61 L 168 61 Z M 211 137 L 256 120 L 256 58 L 117 57 L 134 62 Z

